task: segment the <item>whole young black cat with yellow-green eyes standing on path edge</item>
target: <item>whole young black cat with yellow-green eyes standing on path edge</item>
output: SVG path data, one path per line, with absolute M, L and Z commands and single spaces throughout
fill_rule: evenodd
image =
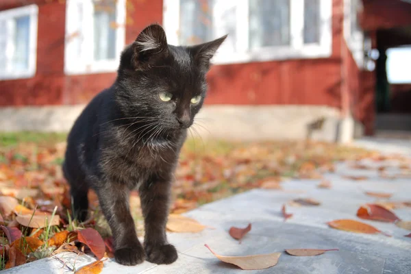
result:
M 165 232 L 171 182 L 206 96 L 210 59 L 225 38 L 175 47 L 160 25 L 149 25 L 121 54 L 114 84 L 92 99 L 71 129 L 63 171 L 75 217 L 86 219 L 88 188 L 94 189 L 120 264 L 177 260 Z M 144 247 L 129 211 L 134 188 L 145 219 Z

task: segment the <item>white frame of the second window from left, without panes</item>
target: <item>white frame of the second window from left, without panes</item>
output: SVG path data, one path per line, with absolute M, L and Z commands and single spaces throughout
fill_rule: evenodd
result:
M 113 73 L 120 63 L 121 51 L 125 46 L 126 0 L 116 0 L 116 51 L 112 60 L 94 60 L 93 0 L 66 0 L 66 36 L 64 40 L 64 73 L 80 75 L 92 73 Z M 73 8 L 76 3 L 84 5 L 84 22 L 81 29 L 75 26 Z M 73 27 L 74 26 L 74 27 Z M 81 39 L 81 57 L 75 54 L 73 39 Z

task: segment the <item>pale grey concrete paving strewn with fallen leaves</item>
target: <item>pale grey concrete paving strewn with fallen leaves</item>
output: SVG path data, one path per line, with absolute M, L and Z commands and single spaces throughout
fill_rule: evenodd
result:
M 336 166 L 336 173 L 328 173 L 326 179 L 331 189 L 317 188 L 320 180 L 295 179 L 284 183 L 284 190 L 251 190 L 228 199 L 206 204 L 185 215 L 200 223 L 214 227 L 197 234 L 169 233 L 169 241 L 177 247 L 179 259 L 168 266 L 144 262 L 138 266 L 121 266 L 114 260 L 105 262 L 103 273 L 238 273 L 236 266 L 224 264 L 215 258 L 204 244 L 222 255 L 251 255 L 282 252 L 292 248 L 340 249 L 321 256 L 293 257 L 283 253 L 277 266 L 262 271 L 247 273 L 411 273 L 410 233 L 392 223 L 365 221 L 356 218 L 356 211 L 363 203 L 376 201 L 364 194 L 366 190 L 392 192 L 391 201 L 409 201 L 411 178 L 386 179 L 379 177 L 375 168 L 390 165 L 387 173 L 399 173 L 395 161 L 373 163 L 364 160 L 373 169 L 351 169 L 350 163 Z M 353 181 L 343 175 L 364 175 L 368 179 Z M 284 203 L 299 197 L 311 197 L 321 201 L 320 206 L 287 207 L 294 214 L 284 222 L 280 208 Z M 411 220 L 411 208 L 401 208 L 395 213 L 403 220 Z M 332 229 L 328 221 L 335 219 L 357 219 L 392 235 L 354 234 Z M 231 226 L 245 227 L 252 223 L 252 229 L 241 244 L 232 239 L 228 230 Z M 90 256 L 76 256 L 73 253 L 58 255 L 73 269 L 93 262 Z M 4 273 L 72 273 L 54 258 L 38 260 Z

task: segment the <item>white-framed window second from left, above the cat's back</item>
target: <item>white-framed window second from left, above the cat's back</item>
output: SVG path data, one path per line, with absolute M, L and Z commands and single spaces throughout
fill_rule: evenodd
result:
M 125 45 L 125 0 L 67 0 L 64 71 L 114 72 Z

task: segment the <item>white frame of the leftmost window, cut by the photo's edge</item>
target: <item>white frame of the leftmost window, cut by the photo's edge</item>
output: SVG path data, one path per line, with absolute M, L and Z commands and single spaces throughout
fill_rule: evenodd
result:
M 29 60 L 26 71 L 12 71 L 10 56 L 14 51 L 14 19 L 21 16 L 30 16 L 29 25 Z M 25 5 L 20 8 L 13 8 L 10 10 L 3 10 L 0 12 L 0 21 L 5 21 L 8 27 L 8 37 L 6 38 L 6 71 L 5 73 L 0 73 L 1 80 L 7 79 L 23 79 L 31 78 L 36 75 L 36 62 L 37 62 L 37 27 L 38 27 L 38 6 Z M 7 66 L 9 69 L 7 69 Z

